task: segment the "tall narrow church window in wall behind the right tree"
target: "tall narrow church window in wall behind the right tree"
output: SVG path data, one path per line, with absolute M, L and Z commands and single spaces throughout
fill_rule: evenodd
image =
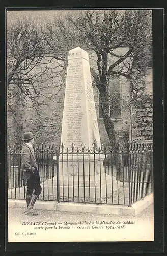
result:
M 110 118 L 121 118 L 121 90 L 120 80 L 117 77 L 110 79 L 108 87 L 109 116 Z M 102 118 L 101 103 L 99 95 L 99 118 Z

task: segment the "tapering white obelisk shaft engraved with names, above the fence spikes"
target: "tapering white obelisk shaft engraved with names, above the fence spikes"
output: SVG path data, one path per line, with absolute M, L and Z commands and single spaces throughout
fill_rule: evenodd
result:
M 76 47 L 69 51 L 61 144 L 85 150 L 101 147 L 88 53 Z

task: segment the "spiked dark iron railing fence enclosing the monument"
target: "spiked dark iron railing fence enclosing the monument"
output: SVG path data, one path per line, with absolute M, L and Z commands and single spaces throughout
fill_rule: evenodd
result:
M 8 149 L 8 198 L 25 199 L 20 148 Z M 39 200 L 131 205 L 153 191 L 153 144 L 102 149 L 37 146 Z

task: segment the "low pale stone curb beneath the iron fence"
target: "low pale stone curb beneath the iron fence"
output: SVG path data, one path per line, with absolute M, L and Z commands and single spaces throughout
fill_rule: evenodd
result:
M 84 204 L 74 202 L 55 202 L 55 201 L 37 201 L 34 209 L 38 210 L 56 210 L 63 212 L 85 212 L 96 215 L 130 215 L 136 216 L 140 214 L 145 208 L 153 203 L 153 193 L 141 199 L 140 201 L 127 205 L 106 205 L 106 204 Z M 9 208 L 25 208 L 26 200 L 9 199 Z

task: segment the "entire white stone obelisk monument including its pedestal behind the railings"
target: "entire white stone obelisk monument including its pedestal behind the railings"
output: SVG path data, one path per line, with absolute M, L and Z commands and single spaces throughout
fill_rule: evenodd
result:
M 88 150 L 93 153 L 93 145 L 98 152 L 101 143 L 89 57 L 80 47 L 70 50 L 68 55 L 61 144 L 63 152 L 59 156 L 60 196 L 73 197 L 79 194 L 79 197 L 94 198 L 96 194 L 96 198 L 99 198 L 116 189 L 117 182 L 114 177 L 112 184 L 110 176 L 104 172 L 104 155 L 82 154 L 83 144 L 85 153 Z M 70 154 L 72 145 L 74 155 Z M 69 154 L 66 154 L 67 149 Z M 55 176 L 54 181 L 56 179 Z

